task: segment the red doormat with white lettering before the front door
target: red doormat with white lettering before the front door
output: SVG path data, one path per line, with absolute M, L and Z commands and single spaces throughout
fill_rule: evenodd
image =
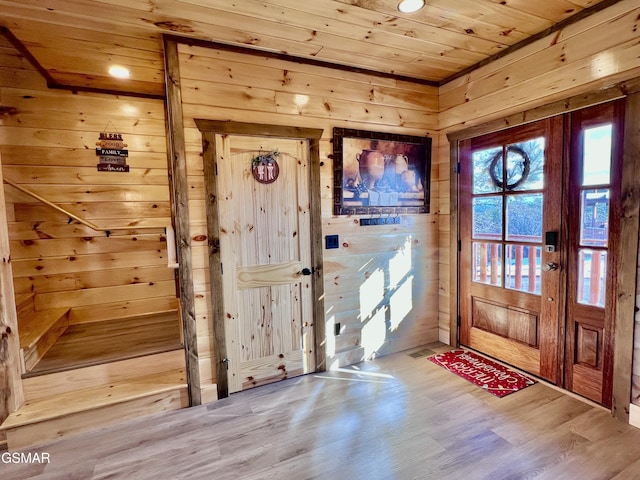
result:
M 469 350 L 451 350 L 429 357 L 436 365 L 484 388 L 496 397 L 504 397 L 534 383 L 531 378 L 477 355 Z

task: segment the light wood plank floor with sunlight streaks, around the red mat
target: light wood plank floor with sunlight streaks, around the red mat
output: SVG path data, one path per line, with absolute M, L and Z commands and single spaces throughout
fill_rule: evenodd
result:
M 424 353 L 41 445 L 49 464 L 0 463 L 1 478 L 640 478 L 640 430 L 539 383 L 496 398 Z

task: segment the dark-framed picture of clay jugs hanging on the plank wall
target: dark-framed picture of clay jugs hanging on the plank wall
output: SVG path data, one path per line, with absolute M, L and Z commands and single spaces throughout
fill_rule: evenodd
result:
M 431 138 L 333 129 L 335 215 L 429 213 Z

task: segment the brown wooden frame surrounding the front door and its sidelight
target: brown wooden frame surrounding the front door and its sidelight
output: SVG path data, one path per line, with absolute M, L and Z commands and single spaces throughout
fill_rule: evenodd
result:
M 613 404 L 614 417 L 628 423 L 633 375 L 633 336 L 635 327 L 636 265 L 640 226 L 640 189 L 635 185 L 640 177 L 640 78 L 618 83 L 610 88 L 553 102 L 526 112 L 502 117 L 486 124 L 447 134 L 450 148 L 450 343 L 458 346 L 460 323 L 458 214 L 458 143 L 461 140 L 494 133 L 525 123 L 611 100 L 625 98 L 624 144 L 622 158 L 620 238 L 625 238 L 617 262 L 618 296 L 615 309 Z

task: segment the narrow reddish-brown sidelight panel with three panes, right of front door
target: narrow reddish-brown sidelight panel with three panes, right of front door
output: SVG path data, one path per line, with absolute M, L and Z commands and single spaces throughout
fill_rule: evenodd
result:
M 571 115 L 566 388 L 612 404 L 623 101 Z

